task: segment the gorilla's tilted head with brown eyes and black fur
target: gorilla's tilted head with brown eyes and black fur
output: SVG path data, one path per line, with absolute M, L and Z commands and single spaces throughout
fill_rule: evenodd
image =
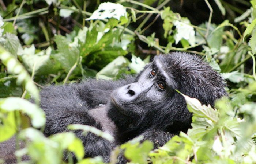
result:
M 227 95 L 224 87 L 221 76 L 196 55 L 158 55 L 134 83 L 112 93 L 108 117 L 123 135 L 136 135 L 147 128 L 186 131 L 192 114 L 175 89 L 213 106 L 216 99 Z

